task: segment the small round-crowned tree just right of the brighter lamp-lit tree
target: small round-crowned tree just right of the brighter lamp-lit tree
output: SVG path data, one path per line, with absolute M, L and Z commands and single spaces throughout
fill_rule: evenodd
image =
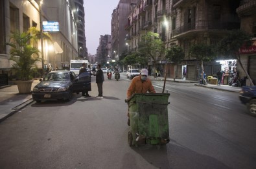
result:
M 183 52 L 183 49 L 179 47 L 178 45 L 171 46 L 169 49 L 167 49 L 165 58 L 167 60 L 170 60 L 170 62 L 174 63 L 176 66 L 176 69 L 174 69 L 174 81 L 176 78 L 176 72 L 177 72 L 177 64 L 185 58 L 185 53 Z

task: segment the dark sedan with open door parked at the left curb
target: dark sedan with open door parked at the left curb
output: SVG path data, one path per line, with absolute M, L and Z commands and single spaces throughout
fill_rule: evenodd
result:
M 73 71 L 52 71 L 40 79 L 32 90 L 32 98 L 41 100 L 71 100 L 73 93 L 91 91 L 91 75 L 84 72 L 76 76 Z

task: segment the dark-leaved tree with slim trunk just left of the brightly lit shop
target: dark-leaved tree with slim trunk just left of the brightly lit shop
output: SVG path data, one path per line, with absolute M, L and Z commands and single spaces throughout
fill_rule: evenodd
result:
M 202 76 L 204 76 L 204 62 L 213 61 L 215 59 L 215 47 L 213 47 L 213 45 L 207 45 L 206 43 L 198 43 L 192 45 L 189 49 L 189 52 L 194 58 L 200 60 Z M 203 82 L 206 84 L 205 79 Z

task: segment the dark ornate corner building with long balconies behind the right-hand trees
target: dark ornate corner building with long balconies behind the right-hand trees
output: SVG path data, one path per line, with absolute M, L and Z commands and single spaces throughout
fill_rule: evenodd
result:
M 239 0 L 141 0 L 128 16 L 126 42 L 130 52 L 136 51 L 143 34 L 148 31 L 158 33 L 166 48 L 179 45 L 185 52 L 185 60 L 178 65 L 176 78 L 196 80 L 201 71 L 200 63 L 191 57 L 189 48 L 195 43 L 215 44 L 230 30 L 239 29 L 238 7 Z M 157 63 L 157 69 L 165 69 L 165 56 Z M 220 62 L 209 62 L 204 64 L 204 71 L 207 76 L 214 75 L 221 67 Z M 172 63 L 167 64 L 167 71 L 167 76 L 173 78 Z

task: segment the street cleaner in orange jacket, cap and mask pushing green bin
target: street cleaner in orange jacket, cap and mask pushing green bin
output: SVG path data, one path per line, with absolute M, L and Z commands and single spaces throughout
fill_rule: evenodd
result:
M 132 95 L 135 93 L 156 93 L 151 80 L 148 78 L 148 70 L 147 69 L 141 69 L 141 74 L 139 76 L 135 76 L 132 79 L 132 82 L 130 84 L 130 87 L 127 90 L 127 100 L 130 99 Z M 130 115 L 129 115 L 129 109 L 128 109 L 128 126 L 130 126 Z

